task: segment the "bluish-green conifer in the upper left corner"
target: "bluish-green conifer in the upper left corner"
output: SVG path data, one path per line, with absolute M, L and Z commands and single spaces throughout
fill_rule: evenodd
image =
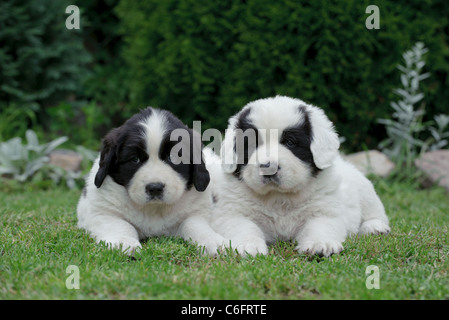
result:
M 0 107 L 28 102 L 45 107 L 79 89 L 89 55 L 80 32 L 65 26 L 69 4 L 0 2 Z

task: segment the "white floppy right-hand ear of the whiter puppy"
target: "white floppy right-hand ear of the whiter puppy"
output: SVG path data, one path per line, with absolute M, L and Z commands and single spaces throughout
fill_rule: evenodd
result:
M 332 122 L 324 114 L 323 110 L 311 106 L 308 108 L 308 111 L 313 134 L 310 145 L 313 162 L 319 169 L 326 169 L 332 165 L 332 162 L 338 155 L 340 140 Z

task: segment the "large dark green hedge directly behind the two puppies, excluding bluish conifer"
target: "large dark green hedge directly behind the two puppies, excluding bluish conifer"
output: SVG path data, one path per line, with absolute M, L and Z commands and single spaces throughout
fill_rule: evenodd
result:
M 247 102 L 290 95 L 326 110 L 346 147 L 376 147 L 391 113 L 396 65 L 416 41 L 429 48 L 429 117 L 449 101 L 449 3 L 378 1 L 121 0 L 133 108 L 168 108 L 188 124 L 224 129 Z

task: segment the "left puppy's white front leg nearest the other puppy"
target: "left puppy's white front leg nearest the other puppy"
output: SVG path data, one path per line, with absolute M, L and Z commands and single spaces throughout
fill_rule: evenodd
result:
M 177 234 L 185 240 L 195 242 L 204 247 L 213 256 L 226 244 L 227 240 L 216 233 L 207 220 L 201 216 L 192 216 L 179 226 Z

